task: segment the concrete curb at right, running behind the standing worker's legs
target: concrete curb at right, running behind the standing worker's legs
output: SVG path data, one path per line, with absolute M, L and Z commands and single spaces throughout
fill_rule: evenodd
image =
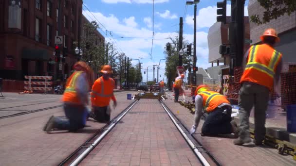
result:
M 234 120 L 237 123 L 239 123 L 239 117 L 237 116 L 234 117 Z M 250 117 L 249 121 L 250 121 L 250 129 L 255 130 L 254 117 Z M 287 129 L 285 127 L 266 122 L 265 128 L 266 128 L 266 135 L 269 135 L 279 140 L 290 142 L 292 144 L 296 144 L 296 133 L 287 132 Z

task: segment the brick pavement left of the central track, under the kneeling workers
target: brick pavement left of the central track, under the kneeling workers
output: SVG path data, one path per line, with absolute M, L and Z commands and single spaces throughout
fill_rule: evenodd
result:
M 118 104 L 111 118 L 132 102 L 126 94 L 115 93 Z M 0 166 L 56 166 L 105 125 L 88 121 L 88 127 L 77 133 L 46 134 L 42 127 L 52 115 L 64 116 L 62 108 L 0 119 Z

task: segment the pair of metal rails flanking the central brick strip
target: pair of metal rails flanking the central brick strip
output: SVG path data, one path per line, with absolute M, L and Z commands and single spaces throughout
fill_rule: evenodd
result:
M 141 100 L 141 99 L 140 99 Z M 104 137 L 111 132 L 117 123 L 137 104 L 139 100 L 133 101 L 127 108 L 125 108 L 121 113 L 115 116 L 109 123 L 107 123 L 103 128 L 94 133 L 87 141 L 85 141 L 78 149 L 76 149 L 72 154 L 65 158 L 58 166 L 77 166 L 84 158 L 94 149 Z M 189 131 L 185 128 L 183 123 L 170 111 L 166 104 L 159 100 L 159 103 L 164 108 L 164 111 L 170 117 L 171 121 L 174 123 L 176 128 L 179 130 L 189 147 L 195 153 L 198 160 L 203 166 L 221 166 L 219 162 L 207 151 L 202 144 L 193 137 Z

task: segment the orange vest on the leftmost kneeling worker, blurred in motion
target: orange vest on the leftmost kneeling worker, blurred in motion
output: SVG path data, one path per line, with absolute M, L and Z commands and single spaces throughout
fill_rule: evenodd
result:
M 71 102 L 74 104 L 82 104 L 77 96 L 75 84 L 77 78 L 83 73 L 83 71 L 75 71 L 69 78 L 66 84 L 66 89 L 62 97 L 62 101 Z

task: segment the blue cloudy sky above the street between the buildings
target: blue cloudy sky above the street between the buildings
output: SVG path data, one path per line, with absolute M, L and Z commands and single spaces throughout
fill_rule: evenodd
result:
M 197 66 L 207 68 L 208 63 L 207 33 L 216 22 L 216 4 L 221 0 L 200 0 L 197 6 Z M 166 43 L 170 36 L 179 31 L 179 17 L 183 17 L 183 37 L 193 43 L 194 5 L 185 6 L 186 0 L 154 0 L 154 41 L 152 59 L 152 0 L 83 0 L 90 10 L 83 6 L 83 14 L 90 21 L 98 20 L 99 32 L 106 41 L 111 41 L 120 52 L 129 58 L 140 59 L 144 68 L 148 67 L 148 81 L 152 80 L 152 65 L 158 65 L 165 59 Z M 229 3 L 229 2 L 228 2 Z M 245 3 L 247 6 L 248 0 Z M 186 10 L 185 10 L 186 9 Z M 245 7 L 246 9 L 246 7 Z M 227 5 L 227 16 L 230 16 L 230 5 Z M 247 11 L 245 11 L 247 16 Z M 98 22 L 97 21 L 97 22 Z M 106 29 L 111 32 L 106 34 Z M 123 37 L 123 38 L 120 38 Z M 133 60 L 134 65 L 138 63 Z M 160 63 L 159 79 L 165 73 L 165 61 Z M 146 75 L 143 73 L 143 81 Z M 156 72 L 155 72 L 156 74 Z M 164 78 L 166 81 L 166 77 Z

